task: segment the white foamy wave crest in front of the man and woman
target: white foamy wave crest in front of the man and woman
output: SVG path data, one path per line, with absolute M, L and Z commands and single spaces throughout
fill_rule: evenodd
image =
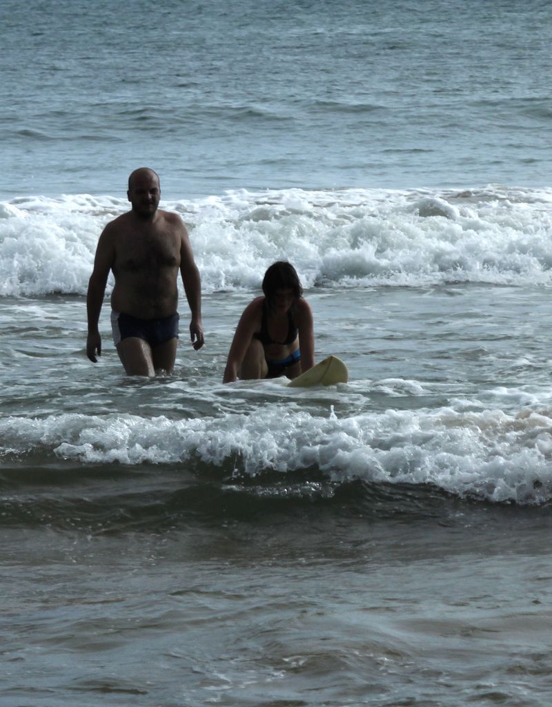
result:
M 257 414 L 144 419 L 59 414 L 0 420 L 0 457 L 87 464 L 207 463 L 230 478 L 317 468 L 341 483 L 430 484 L 491 502 L 552 499 L 552 409 L 387 410 L 339 416 L 267 406 Z

